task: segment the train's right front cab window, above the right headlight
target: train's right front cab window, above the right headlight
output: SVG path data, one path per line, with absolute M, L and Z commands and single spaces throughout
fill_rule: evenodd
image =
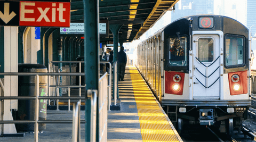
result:
M 236 35 L 225 36 L 225 63 L 226 66 L 244 63 L 244 37 Z

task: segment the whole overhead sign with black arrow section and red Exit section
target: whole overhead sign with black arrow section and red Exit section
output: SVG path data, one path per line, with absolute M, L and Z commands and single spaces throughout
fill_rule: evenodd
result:
M 69 2 L 0 2 L 0 25 L 69 27 Z

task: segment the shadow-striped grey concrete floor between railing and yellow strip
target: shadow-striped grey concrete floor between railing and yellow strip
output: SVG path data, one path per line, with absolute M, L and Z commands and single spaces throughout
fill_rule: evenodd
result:
M 108 141 L 142 141 L 140 122 L 129 70 L 118 81 L 121 111 L 108 112 Z

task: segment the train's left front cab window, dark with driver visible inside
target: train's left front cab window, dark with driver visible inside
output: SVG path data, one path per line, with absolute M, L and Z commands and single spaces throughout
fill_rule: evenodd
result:
M 187 37 L 169 38 L 169 64 L 187 66 Z

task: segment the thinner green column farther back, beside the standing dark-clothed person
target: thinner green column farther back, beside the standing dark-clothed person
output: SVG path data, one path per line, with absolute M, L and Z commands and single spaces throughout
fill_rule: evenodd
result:
M 119 30 L 121 29 L 123 25 L 122 24 L 110 24 L 109 25 L 109 29 L 112 31 L 113 33 L 113 44 L 114 44 L 114 57 L 113 57 L 113 63 L 114 63 L 114 71 L 113 71 L 113 79 L 115 79 L 115 76 L 116 77 L 116 84 L 114 83 L 113 84 L 113 95 L 117 95 L 117 98 L 119 98 L 119 95 L 118 95 L 118 80 L 119 80 L 119 77 L 118 77 L 118 62 L 117 62 L 117 68 L 115 70 L 115 62 L 117 61 L 117 56 L 118 56 L 118 32 Z M 115 80 L 113 81 L 115 82 Z M 115 89 L 117 88 L 117 89 Z M 115 91 L 117 90 L 117 92 Z

